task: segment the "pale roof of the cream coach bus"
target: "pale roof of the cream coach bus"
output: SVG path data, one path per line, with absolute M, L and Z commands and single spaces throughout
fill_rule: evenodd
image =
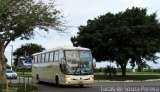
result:
M 90 50 L 88 48 L 84 48 L 84 47 L 57 47 L 57 48 L 53 48 L 50 50 L 45 50 L 43 52 L 39 52 L 39 53 L 34 53 L 33 55 L 38 55 L 38 54 L 42 54 L 42 53 L 46 53 L 46 52 L 51 52 L 51 51 L 55 51 L 55 50 Z

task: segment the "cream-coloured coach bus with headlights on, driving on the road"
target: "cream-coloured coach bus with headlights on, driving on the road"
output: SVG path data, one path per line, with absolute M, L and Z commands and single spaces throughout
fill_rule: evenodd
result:
M 32 76 L 36 82 L 83 87 L 94 83 L 94 65 L 90 49 L 58 47 L 33 54 Z

